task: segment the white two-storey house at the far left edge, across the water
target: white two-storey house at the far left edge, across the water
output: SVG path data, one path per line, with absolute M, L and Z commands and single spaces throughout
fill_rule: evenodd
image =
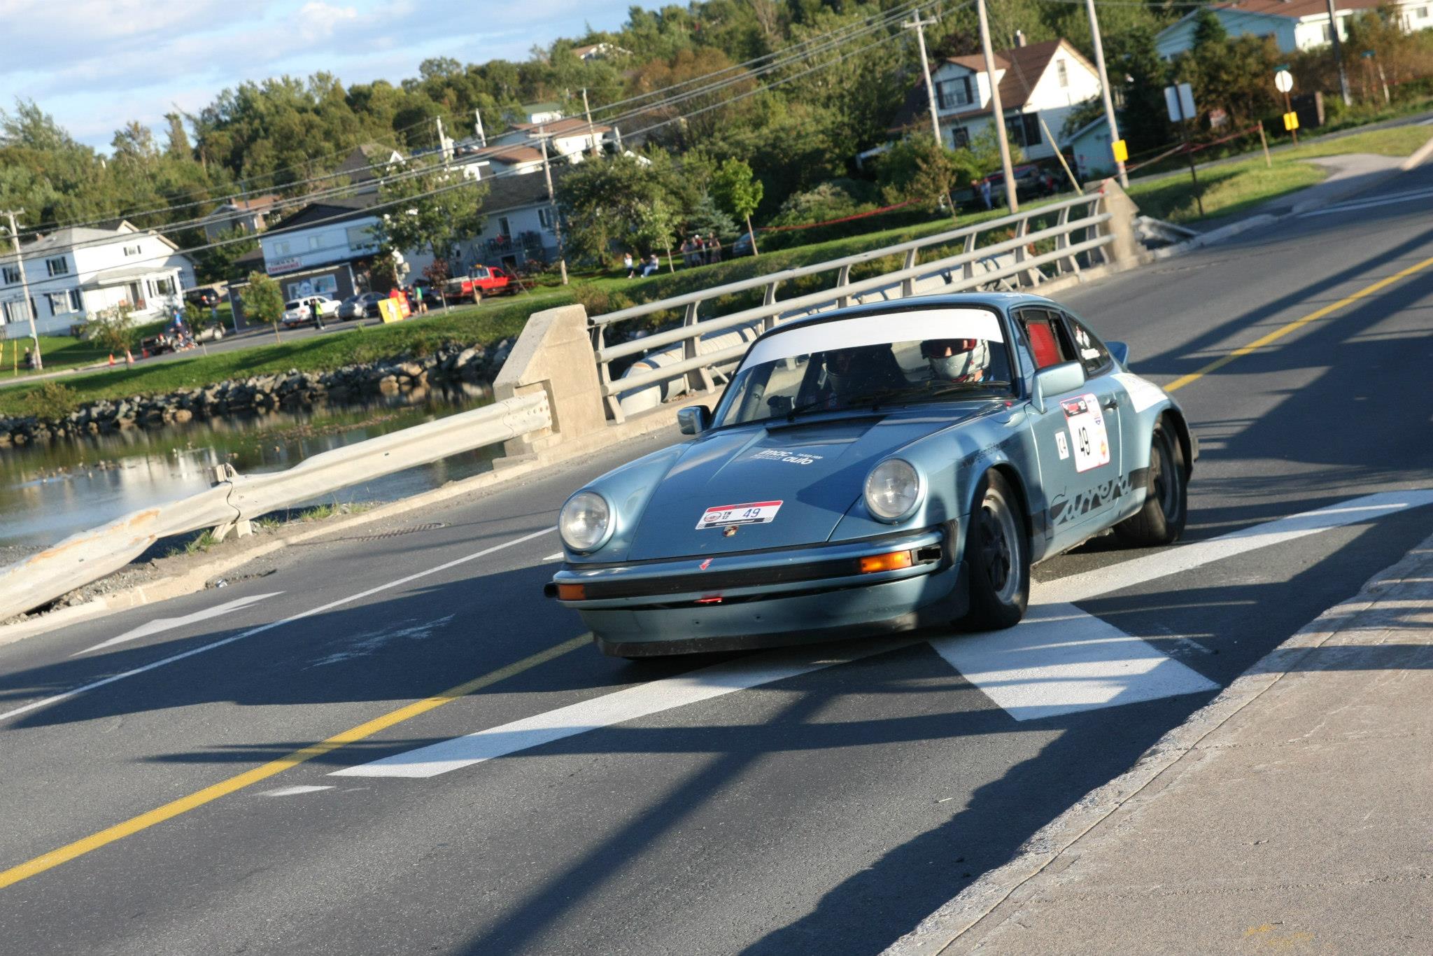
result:
M 178 249 L 129 222 L 113 229 L 70 226 L 21 244 L 19 262 L 13 252 L 0 257 L 0 331 L 6 338 L 30 334 L 21 262 L 40 334 L 69 334 L 72 325 L 120 302 L 140 320 L 163 315 L 195 284 L 193 262 Z

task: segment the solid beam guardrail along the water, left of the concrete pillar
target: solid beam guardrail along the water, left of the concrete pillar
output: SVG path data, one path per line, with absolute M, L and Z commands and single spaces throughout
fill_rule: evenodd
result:
M 224 466 L 224 479 L 206 492 L 132 512 L 0 568 L 0 621 L 119 570 L 160 537 L 203 527 L 218 527 L 222 537 L 277 509 L 549 427 L 547 393 L 539 391 L 332 449 L 287 472 L 235 474 Z

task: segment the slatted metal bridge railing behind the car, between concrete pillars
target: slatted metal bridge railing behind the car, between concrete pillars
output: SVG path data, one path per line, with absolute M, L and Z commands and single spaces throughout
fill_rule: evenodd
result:
M 1113 241 L 1108 232 L 1101 234 L 1099 226 L 1109 221 L 1108 212 L 1098 212 L 1103 195 L 1099 192 L 1086 193 L 1073 199 L 1063 199 L 1043 206 L 1035 206 L 1015 215 L 989 219 L 959 229 L 937 232 L 920 239 L 898 242 L 896 245 L 868 249 L 847 255 L 840 259 L 817 262 L 792 269 L 781 269 L 738 282 L 715 285 L 685 295 L 663 298 L 645 305 L 623 308 L 605 315 L 595 315 L 589 321 L 593 351 L 598 361 L 598 377 L 602 384 L 602 400 L 606 406 L 608 417 L 622 421 L 623 413 L 619 396 L 636 391 L 643 387 L 658 386 L 674 378 L 686 377 L 689 388 L 706 391 L 715 386 L 715 376 L 721 374 L 724 365 L 738 361 L 747 351 L 747 344 L 731 345 L 702 351 L 702 337 L 715 331 L 735 328 L 741 325 L 759 324 L 765 331 L 787 318 L 810 315 L 827 308 L 841 308 L 851 301 L 861 301 L 861 297 L 907 298 L 911 295 L 929 294 L 931 291 L 959 292 L 1000 281 L 1015 281 L 1015 284 L 1037 285 L 1046 281 L 1043 267 L 1053 267 L 1055 275 L 1076 274 L 1080 269 L 1076 257 L 1093 254 Z M 1030 231 L 1030 224 L 1039 219 L 1055 216 L 1055 225 Z M 992 234 L 1015 231 L 1015 236 L 1005 239 Z M 1083 235 L 1080 235 L 1083 234 Z M 996 239 L 982 245 L 982 238 Z M 1033 252 L 1033 244 L 1053 239 L 1055 251 L 1043 255 Z M 929 262 L 920 262 L 920 254 L 927 248 L 939 248 L 960 242 L 962 251 Z M 881 259 L 891 255 L 904 255 L 904 267 L 893 272 L 886 272 L 857 282 L 851 281 L 851 268 Z M 956 272 L 959 271 L 959 277 Z M 782 282 L 835 272 L 833 288 L 808 292 L 790 300 L 778 301 L 777 290 Z M 701 318 L 704 302 L 725 295 L 764 290 L 762 304 L 729 312 Z M 628 343 L 608 345 L 608 330 L 638 318 L 671 310 L 684 310 L 684 320 L 678 328 L 645 335 Z M 682 344 L 682 358 L 679 361 L 651 368 L 625 378 L 612 377 L 612 363 L 632 355 L 643 355 L 666 345 Z

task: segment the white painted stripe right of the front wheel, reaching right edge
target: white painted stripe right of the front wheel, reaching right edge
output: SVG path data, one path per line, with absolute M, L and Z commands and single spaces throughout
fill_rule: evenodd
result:
M 1201 565 L 1234 558 L 1258 548 L 1280 545 L 1330 527 L 1356 525 L 1423 505 L 1433 505 L 1433 489 L 1366 494 L 1364 497 L 1340 502 L 1313 512 L 1290 515 L 1288 517 L 1254 525 L 1252 527 L 1208 540 L 1178 545 L 1155 552 L 1154 555 L 1146 555 L 1145 558 L 1134 558 L 1118 565 L 1109 565 L 1108 568 L 1059 578 L 1039 589 L 1039 601 L 1042 603 L 1089 601 L 1112 591 L 1192 570 Z

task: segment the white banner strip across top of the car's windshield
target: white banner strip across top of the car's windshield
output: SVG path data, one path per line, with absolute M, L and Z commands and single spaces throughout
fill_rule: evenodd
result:
M 984 308 L 931 308 L 858 315 L 828 322 L 801 324 L 768 335 L 751 347 L 742 368 L 834 348 L 888 345 L 927 338 L 983 338 L 1005 341 L 1000 320 Z

